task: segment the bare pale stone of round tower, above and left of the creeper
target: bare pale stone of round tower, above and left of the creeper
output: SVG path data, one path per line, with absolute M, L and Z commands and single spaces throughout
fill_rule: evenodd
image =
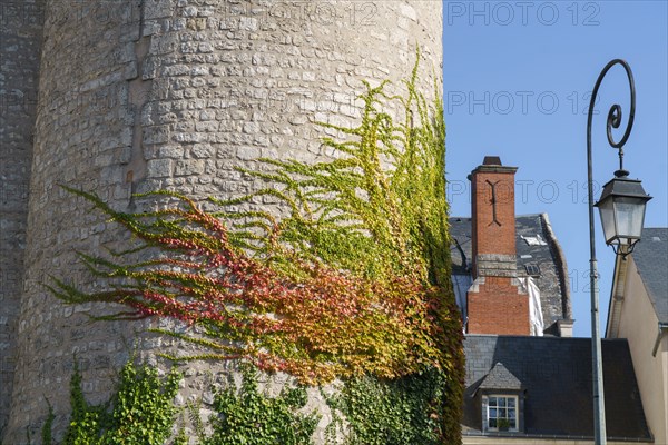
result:
M 314 122 L 354 122 L 362 80 L 401 89 L 418 47 L 421 89 L 432 96 L 441 8 L 434 0 L 48 1 L 6 443 L 23 443 L 27 427 L 37 433 L 45 398 L 63 431 L 75 356 L 87 397 L 99 402 L 134 343 L 150 352 L 161 342 L 143 336 L 140 323 L 91 323 L 87 313 L 99 308 L 63 306 L 42 286 L 56 276 L 95 287 L 76 251 L 127 237 L 59 185 L 122 210 L 136 205 L 132 192 L 253 191 L 257 180 L 235 167 L 328 156 L 320 144 L 326 129 Z

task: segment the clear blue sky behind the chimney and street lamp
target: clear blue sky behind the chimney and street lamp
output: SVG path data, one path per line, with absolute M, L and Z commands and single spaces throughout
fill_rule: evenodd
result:
M 564 249 L 576 318 L 574 335 L 590 336 L 587 214 L 587 110 L 599 72 L 625 59 L 636 80 L 636 120 L 625 167 L 654 197 L 646 227 L 668 226 L 668 2 L 444 1 L 443 83 L 446 178 L 451 215 L 470 215 L 466 175 L 485 155 L 519 167 L 518 215 L 547 212 Z M 613 103 L 629 111 L 620 66 L 599 90 L 593 119 L 593 177 L 617 169 L 606 140 Z M 617 139 L 623 128 L 617 132 Z M 600 189 L 595 190 L 598 199 Z M 615 255 L 596 215 L 605 329 Z

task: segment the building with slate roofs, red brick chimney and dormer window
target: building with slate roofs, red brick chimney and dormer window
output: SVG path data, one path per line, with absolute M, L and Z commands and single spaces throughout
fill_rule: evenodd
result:
M 466 333 L 463 443 L 592 444 L 591 340 L 572 338 L 568 268 L 547 215 L 515 216 L 515 170 L 485 157 L 470 176 L 471 218 L 450 220 Z M 630 342 L 602 344 L 610 444 L 652 443 Z

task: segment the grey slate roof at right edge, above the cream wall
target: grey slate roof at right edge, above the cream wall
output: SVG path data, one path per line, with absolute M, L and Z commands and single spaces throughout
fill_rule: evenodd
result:
M 660 323 L 668 323 L 668 228 L 645 228 L 633 261 Z

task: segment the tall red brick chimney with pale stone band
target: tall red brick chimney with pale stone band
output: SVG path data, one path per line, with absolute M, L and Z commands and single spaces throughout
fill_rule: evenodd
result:
M 487 156 L 472 190 L 473 285 L 466 295 L 469 334 L 530 335 L 529 296 L 517 279 L 514 174 Z

